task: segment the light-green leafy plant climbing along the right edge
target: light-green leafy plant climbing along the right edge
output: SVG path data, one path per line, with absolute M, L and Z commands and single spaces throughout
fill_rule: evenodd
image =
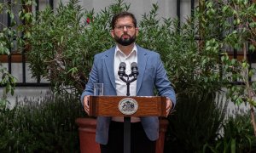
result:
M 196 14 L 201 25 L 201 39 L 204 50 L 219 53 L 220 74 L 227 98 L 236 105 L 245 104 L 251 111 L 251 121 L 256 136 L 255 119 L 255 13 L 256 3 L 252 1 L 201 1 Z M 230 52 L 234 51 L 234 56 Z M 254 53 L 253 53 L 254 52 Z M 236 57 L 237 56 L 237 57 Z M 239 58 L 240 56 L 240 58 Z M 231 57 L 231 58 L 230 58 Z M 232 83 L 230 83 L 232 82 Z

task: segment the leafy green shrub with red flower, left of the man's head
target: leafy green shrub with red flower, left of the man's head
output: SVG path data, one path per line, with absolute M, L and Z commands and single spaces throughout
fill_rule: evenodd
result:
M 113 14 L 127 10 L 122 1 L 95 14 L 78 0 L 46 8 L 32 22 L 28 58 L 33 77 L 44 77 L 59 94 L 81 94 L 88 81 L 95 54 L 114 45 L 109 34 Z

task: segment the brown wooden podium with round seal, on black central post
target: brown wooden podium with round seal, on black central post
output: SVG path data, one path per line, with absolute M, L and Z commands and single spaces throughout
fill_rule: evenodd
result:
M 124 153 L 131 152 L 131 116 L 166 116 L 166 97 L 90 96 L 89 116 L 124 116 Z

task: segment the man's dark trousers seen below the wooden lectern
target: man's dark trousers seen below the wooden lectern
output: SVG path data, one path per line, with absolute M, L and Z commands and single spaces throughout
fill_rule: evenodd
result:
M 100 144 L 102 153 L 124 152 L 124 122 L 111 122 L 108 144 Z M 148 139 L 141 122 L 131 123 L 131 153 L 155 153 L 155 141 Z

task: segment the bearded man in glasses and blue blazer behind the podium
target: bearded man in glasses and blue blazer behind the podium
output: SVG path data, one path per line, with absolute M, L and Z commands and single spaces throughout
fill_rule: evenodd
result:
M 104 83 L 104 95 L 126 95 L 126 83 L 118 75 L 119 64 L 125 62 L 126 74 L 131 74 L 131 63 L 138 65 L 137 81 L 131 82 L 131 96 L 154 96 L 154 88 L 160 96 L 166 97 L 167 114 L 174 108 L 176 97 L 160 55 L 139 47 L 137 20 L 133 14 L 121 12 L 113 16 L 111 36 L 116 46 L 95 55 L 89 81 L 81 96 L 84 111 L 88 113 L 88 100 L 93 94 L 93 84 Z M 97 117 L 96 142 L 102 153 L 121 153 L 124 147 L 124 118 L 119 116 Z M 159 137 L 157 116 L 131 117 L 131 152 L 154 153 L 155 141 Z

